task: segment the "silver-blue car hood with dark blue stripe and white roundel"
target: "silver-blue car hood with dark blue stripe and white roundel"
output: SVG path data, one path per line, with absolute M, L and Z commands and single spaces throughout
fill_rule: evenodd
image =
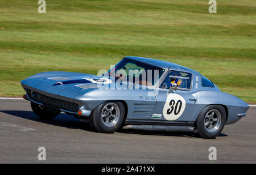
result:
M 98 84 L 111 84 L 114 80 L 104 76 L 75 72 L 43 72 L 20 82 L 24 89 L 67 100 L 97 89 Z

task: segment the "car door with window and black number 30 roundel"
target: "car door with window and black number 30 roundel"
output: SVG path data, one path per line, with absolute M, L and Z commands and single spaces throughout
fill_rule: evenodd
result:
M 180 85 L 177 91 L 170 92 L 173 81 L 180 81 Z M 197 93 L 193 93 L 192 83 L 193 74 L 191 72 L 180 69 L 169 70 L 166 78 L 155 91 L 156 105 L 152 119 L 190 121 L 198 101 Z

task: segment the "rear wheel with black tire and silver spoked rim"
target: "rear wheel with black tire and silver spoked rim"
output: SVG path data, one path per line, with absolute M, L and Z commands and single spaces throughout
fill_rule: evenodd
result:
M 196 126 L 201 138 L 214 139 L 220 135 L 226 122 L 226 112 L 221 105 L 205 107 L 196 120 Z

